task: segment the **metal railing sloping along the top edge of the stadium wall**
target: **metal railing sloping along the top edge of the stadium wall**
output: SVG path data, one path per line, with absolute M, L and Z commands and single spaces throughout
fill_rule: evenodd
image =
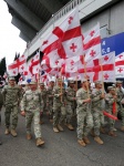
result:
M 32 39 L 31 42 L 28 43 L 28 48 L 33 45 L 35 41 L 46 31 L 48 28 L 50 28 L 51 24 L 53 24 L 54 21 L 59 20 L 63 15 L 65 15 L 69 11 L 74 9 L 80 3 L 84 2 L 85 0 L 72 0 L 69 3 L 66 3 L 63 8 L 61 8 L 56 13 L 52 15 L 52 18 L 44 24 L 44 27 L 38 32 L 38 34 Z

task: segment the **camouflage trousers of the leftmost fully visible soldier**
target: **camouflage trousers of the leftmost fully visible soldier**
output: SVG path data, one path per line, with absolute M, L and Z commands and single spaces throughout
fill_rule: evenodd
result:
M 6 112 L 4 112 L 4 123 L 6 123 L 6 127 L 9 128 L 10 126 L 10 116 L 12 116 L 12 124 L 11 124 L 11 128 L 16 128 L 18 125 L 18 111 L 19 111 L 19 106 L 18 105 L 10 105 L 10 104 L 6 104 Z

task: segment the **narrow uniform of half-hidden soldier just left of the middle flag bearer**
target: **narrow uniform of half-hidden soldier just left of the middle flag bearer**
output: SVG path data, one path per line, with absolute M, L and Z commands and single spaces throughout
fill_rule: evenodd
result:
M 53 87 L 50 86 L 48 89 L 48 97 L 46 97 L 46 103 L 48 103 L 48 110 L 49 110 L 49 115 L 50 120 L 53 118 Z

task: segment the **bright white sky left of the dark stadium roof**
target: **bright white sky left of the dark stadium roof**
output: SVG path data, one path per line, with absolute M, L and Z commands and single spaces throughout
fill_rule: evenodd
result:
M 7 64 L 13 62 L 16 52 L 22 54 L 27 45 L 19 37 L 19 29 L 11 24 L 11 19 L 7 3 L 0 1 L 0 59 L 6 56 Z

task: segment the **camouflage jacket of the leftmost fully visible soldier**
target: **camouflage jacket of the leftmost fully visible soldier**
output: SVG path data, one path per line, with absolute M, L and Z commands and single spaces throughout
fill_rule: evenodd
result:
M 4 104 L 18 105 L 21 101 L 21 89 L 18 85 L 6 85 L 2 90 Z

